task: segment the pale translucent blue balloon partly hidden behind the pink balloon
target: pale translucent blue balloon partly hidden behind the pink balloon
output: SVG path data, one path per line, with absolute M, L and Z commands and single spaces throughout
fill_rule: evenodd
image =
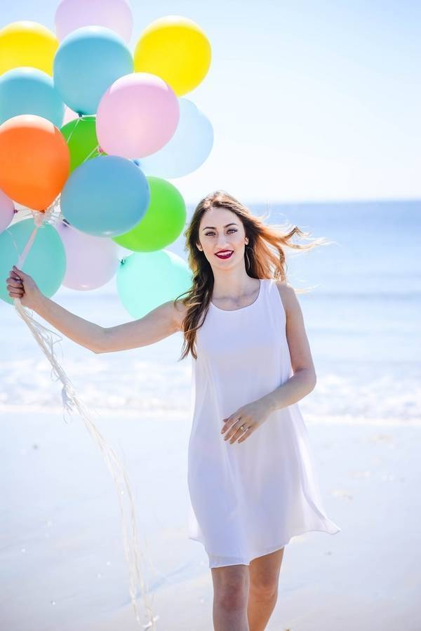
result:
M 182 178 L 196 171 L 213 147 L 213 127 L 194 102 L 178 100 L 180 121 L 173 138 L 161 150 L 139 160 L 147 175 L 159 178 Z

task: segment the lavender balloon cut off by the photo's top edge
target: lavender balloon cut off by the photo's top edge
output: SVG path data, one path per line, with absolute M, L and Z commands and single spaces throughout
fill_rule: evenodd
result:
M 64 39 L 83 26 L 103 26 L 129 41 L 133 15 L 127 0 L 61 0 L 55 11 L 55 32 Z

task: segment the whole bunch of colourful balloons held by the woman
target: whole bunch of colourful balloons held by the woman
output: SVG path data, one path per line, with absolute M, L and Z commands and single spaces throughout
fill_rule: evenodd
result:
M 0 277 L 18 265 L 51 297 L 116 275 L 138 318 L 191 286 L 166 250 L 186 220 L 167 180 L 206 161 L 213 128 L 185 98 L 210 67 L 203 29 L 159 18 L 133 53 L 132 29 L 128 0 L 61 0 L 55 33 L 29 21 L 0 29 Z M 5 283 L 0 298 L 20 305 Z

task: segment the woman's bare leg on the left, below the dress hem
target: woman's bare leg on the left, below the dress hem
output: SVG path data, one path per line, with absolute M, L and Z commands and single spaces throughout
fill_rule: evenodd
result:
M 211 568 L 213 628 L 215 631 L 250 631 L 247 620 L 248 566 Z

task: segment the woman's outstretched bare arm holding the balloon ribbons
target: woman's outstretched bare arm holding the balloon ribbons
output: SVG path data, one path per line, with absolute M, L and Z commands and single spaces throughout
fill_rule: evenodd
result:
M 11 298 L 20 298 L 22 305 L 34 310 L 67 338 L 95 353 L 147 346 L 180 331 L 184 310 L 180 301 L 178 307 L 169 300 L 138 320 L 104 328 L 47 298 L 34 279 L 15 266 L 7 281 Z

